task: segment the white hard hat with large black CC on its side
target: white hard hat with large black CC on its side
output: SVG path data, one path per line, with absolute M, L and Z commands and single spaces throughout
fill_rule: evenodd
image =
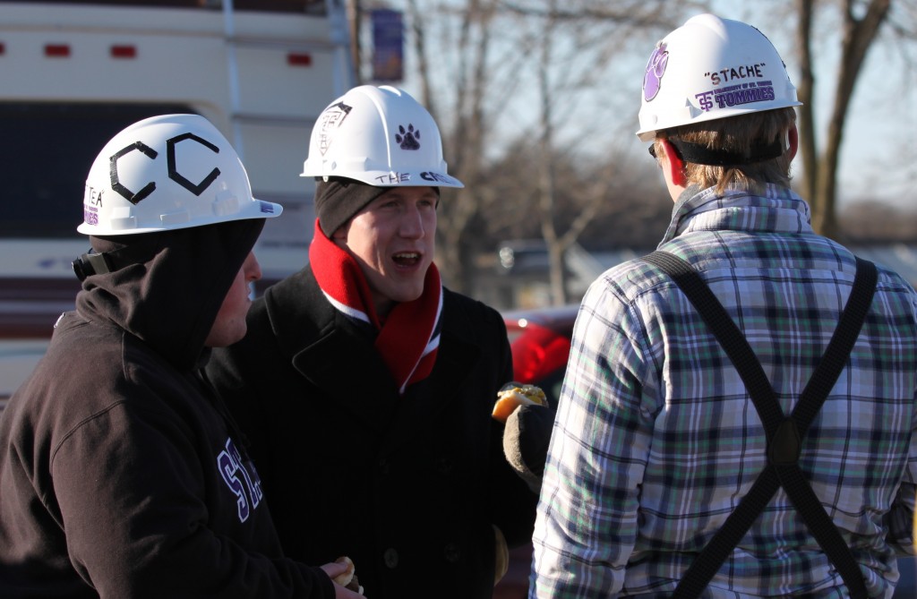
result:
M 130 235 L 280 216 L 251 195 L 236 150 L 203 116 L 163 115 L 122 130 L 86 178 L 86 235 Z

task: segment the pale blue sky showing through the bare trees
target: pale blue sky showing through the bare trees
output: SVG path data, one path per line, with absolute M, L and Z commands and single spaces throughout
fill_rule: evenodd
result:
M 392 2 L 395 7 L 400 2 Z M 713 6 L 721 17 L 736 18 L 760 28 L 770 38 L 787 62 L 790 79 L 799 79 L 799 71 L 793 53 L 791 28 L 783 28 L 789 22 L 775 14 L 775 6 L 790 6 L 790 3 L 771 4 L 753 1 L 714 0 Z M 829 15 L 830 17 L 830 15 Z M 816 127 L 823 129 L 833 98 L 832 80 L 836 71 L 837 28 L 826 22 L 824 17 L 815 21 L 819 33 L 813 52 L 816 56 L 816 102 L 818 103 Z M 432 39 L 431 39 L 432 38 Z M 436 34 L 429 35 L 428 43 L 436 43 Z M 568 128 L 569 139 L 580 140 L 589 137 L 589 143 L 613 143 L 617 150 L 623 150 L 628 160 L 645 158 L 644 146 L 635 139 L 637 128 L 636 110 L 639 108 L 639 86 L 646 57 L 652 50 L 652 41 L 640 40 L 626 46 L 626 55 L 615 58 L 622 66 L 615 71 L 602 94 L 584 97 L 569 105 L 569 111 L 588 114 L 585 125 L 579 129 Z M 632 59 L 628 58 L 632 55 Z M 401 86 L 411 94 L 418 95 L 418 84 L 411 76 L 413 56 L 406 49 L 405 66 L 407 79 Z M 449 82 L 441 82 L 448 84 Z M 534 93 L 534 92 L 533 92 Z M 614 94 L 621 99 L 609 109 L 609 97 Z M 523 94 L 525 95 L 525 94 Z M 535 97 L 507 108 L 502 116 L 503 127 L 509 132 L 532 127 Z M 633 104 L 629 98 L 633 97 Z M 563 128 L 561 128 L 563 129 Z M 857 83 L 854 98 L 845 126 L 845 141 L 841 150 L 841 164 L 838 171 L 838 200 L 841 205 L 859 199 L 871 198 L 893 205 L 914 205 L 917 208 L 913 181 L 917 180 L 917 70 L 909 68 L 888 43 L 875 45 L 867 54 L 867 61 Z M 602 132 L 601 135 L 597 133 Z M 558 133 L 562 136 L 563 131 Z M 508 139 L 509 136 L 507 136 Z M 613 139 L 613 141 L 609 141 Z M 819 139 L 820 141 L 821 139 Z M 794 164 L 799 174 L 801 161 Z

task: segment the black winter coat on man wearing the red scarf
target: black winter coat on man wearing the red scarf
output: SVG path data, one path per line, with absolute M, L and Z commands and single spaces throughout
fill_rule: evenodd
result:
M 293 559 L 350 556 L 370 599 L 491 597 L 492 525 L 522 544 L 537 501 L 491 417 L 513 373 L 503 319 L 444 290 L 436 366 L 403 396 L 372 343 L 306 267 L 256 301 L 207 373 Z

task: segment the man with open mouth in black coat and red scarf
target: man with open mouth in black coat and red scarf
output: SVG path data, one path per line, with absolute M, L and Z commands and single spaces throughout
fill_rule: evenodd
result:
M 436 122 L 363 85 L 316 121 L 309 262 L 272 285 L 207 375 L 252 439 L 284 549 L 346 551 L 373 599 L 491 597 L 536 494 L 491 417 L 512 379 L 502 317 L 443 287 Z M 329 460 L 333 456 L 334 460 Z

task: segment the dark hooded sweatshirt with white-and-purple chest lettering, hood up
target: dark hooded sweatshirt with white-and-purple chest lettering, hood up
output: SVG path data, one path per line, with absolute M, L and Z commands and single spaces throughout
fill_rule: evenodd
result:
M 0 417 L 0 597 L 333 597 L 198 375 L 263 220 L 92 238 L 112 272 Z

